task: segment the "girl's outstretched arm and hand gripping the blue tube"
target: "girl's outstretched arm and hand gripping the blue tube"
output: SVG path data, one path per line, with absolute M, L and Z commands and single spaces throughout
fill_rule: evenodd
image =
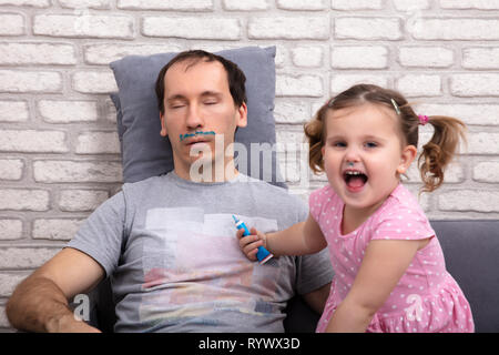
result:
M 317 222 L 308 214 L 305 222 L 296 223 L 291 227 L 275 232 L 262 233 L 251 229 L 252 234 L 243 236 L 243 231 L 237 231 L 241 250 L 249 260 L 256 260 L 257 247 L 263 245 L 275 256 L 313 254 L 326 247 Z

